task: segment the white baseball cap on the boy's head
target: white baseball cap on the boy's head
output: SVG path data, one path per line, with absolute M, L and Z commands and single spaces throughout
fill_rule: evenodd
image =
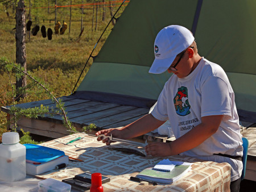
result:
M 177 25 L 164 27 L 156 36 L 154 44 L 155 60 L 149 73 L 165 72 L 175 57 L 188 48 L 195 38 L 187 28 Z

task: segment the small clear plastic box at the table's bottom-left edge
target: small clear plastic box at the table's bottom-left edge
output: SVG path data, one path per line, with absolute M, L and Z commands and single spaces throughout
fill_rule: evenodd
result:
M 54 180 L 53 178 L 48 178 L 43 181 L 38 182 L 39 192 L 70 192 L 71 185 L 61 181 Z

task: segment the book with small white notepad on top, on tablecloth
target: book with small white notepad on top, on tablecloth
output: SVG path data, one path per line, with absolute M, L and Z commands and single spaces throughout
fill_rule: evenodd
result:
M 142 180 L 171 184 L 187 174 L 191 170 L 192 163 L 163 160 L 157 165 L 154 168 L 144 169 L 136 177 Z

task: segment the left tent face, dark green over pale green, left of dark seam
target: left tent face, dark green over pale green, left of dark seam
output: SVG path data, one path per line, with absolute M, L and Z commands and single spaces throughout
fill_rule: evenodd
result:
M 170 2 L 130 1 L 77 91 L 158 99 L 170 74 L 148 73 L 154 60 L 155 36 L 174 22 L 191 28 L 197 6 L 196 1 Z

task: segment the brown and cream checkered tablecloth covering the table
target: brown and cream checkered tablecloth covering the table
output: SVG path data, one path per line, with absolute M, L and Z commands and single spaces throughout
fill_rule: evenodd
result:
M 83 139 L 65 145 L 68 141 L 82 137 Z M 172 161 L 193 162 L 192 169 L 180 180 L 171 185 L 147 185 L 130 181 L 143 169 L 154 166 L 163 158 L 142 157 L 134 154 L 114 151 L 111 147 L 98 142 L 96 137 L 85 133 L 61 137 L 40 145 L 59 149 L 69 157 L 79 158 L 84 162 L 71 162 L 67 168 L 38 175 L 40 178 L 63 180 L 85 171 L 101 173 L 110 177 L 104 183 L 104 191 L 229 191 L 230 170 L 228 163 L 203 161 L 187 156 L 170 156 Z M 112 147 L 141 148 L 141 143 L 114 143 Z

